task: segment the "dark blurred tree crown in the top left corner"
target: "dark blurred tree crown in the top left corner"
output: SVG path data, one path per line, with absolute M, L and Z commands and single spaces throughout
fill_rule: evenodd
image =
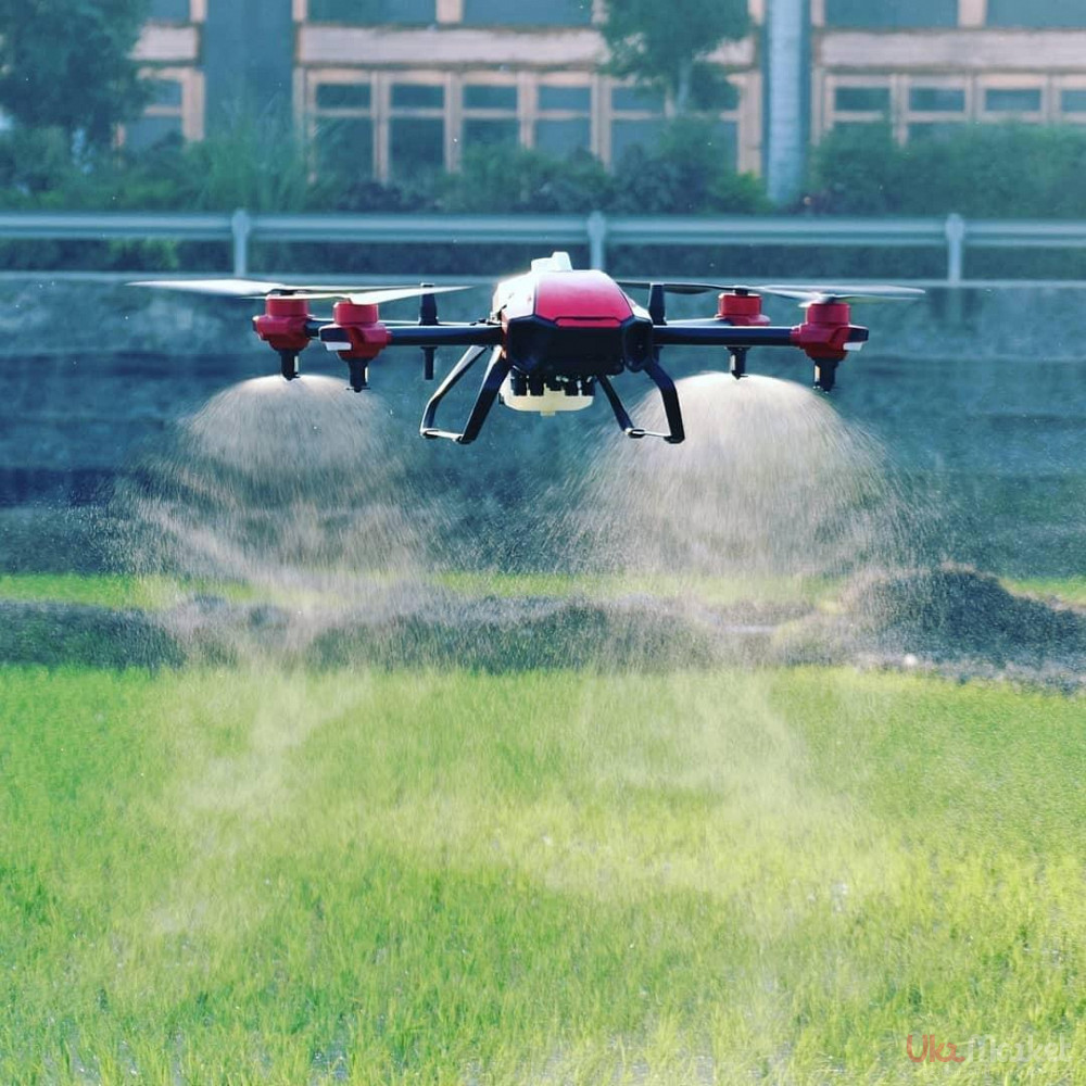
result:
M 147 101 L 132 50 L 148 0 L 0 0 L 0 108 L 108 146 Z

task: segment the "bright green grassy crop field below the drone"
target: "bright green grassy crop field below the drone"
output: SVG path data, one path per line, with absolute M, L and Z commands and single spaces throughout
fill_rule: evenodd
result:
M 0 669 L 0 1082 L 1086 1081 L 1084 719 L 844 669 Z

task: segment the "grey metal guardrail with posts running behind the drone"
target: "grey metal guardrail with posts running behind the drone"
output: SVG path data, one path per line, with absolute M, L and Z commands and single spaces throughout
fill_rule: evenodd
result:
M 253 242 L 369 244 L 525 242 L 586 245 L 606 268 L 609 244 L 833 245 L 927 248 L 946 252 L 946 285 L 964 281 L 969 248 L 1086 248 L 1086 222 L 992 222 L 946 218 L 831 218 L 604 215 L 250 215 L 184 213 L 8 212 L 0 238 L 110 240 L 173 238 L 220 241 L 232 249 L 236 276 L 249 274 Z

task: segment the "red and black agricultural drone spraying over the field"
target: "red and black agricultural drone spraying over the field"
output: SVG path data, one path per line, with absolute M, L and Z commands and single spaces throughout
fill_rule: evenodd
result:
M 707 282 L 613 279 L 603 272 L 577 272 L 566 253 L 533 261 L 531 272 L 497 285 L 491 315 L 471 324 L 438 319 L 435 295 L 466 287 L 287 286 L 247 279 L 157 280 L 136 283 L 233 298 L 263 298 L 264 313 L 253 318 L 256 334 L 279 355 L 287 380 L 298 377 L 298 356 L 312 340 L 338 354 L 350 370 L 351 388 L 368 387 L 369 364 L 390 346 L 421 348 L 424 376 L 433 379 L 434 351 L 466 348 L 422 412 L 424 438 L 447 438 L 466 445 L 479 435 L 495 400 L 514 411 L 554 415 L 580 411 L 603 392 L 619 428 L 629 438 L 683 440 L 682 411 L 674 382 L 660 366 L 665 346 L 719 346 L 729 352 L 729 369 L 746 372 L 755 346 L 798 348 L 815 366 L 815 388 L 829 392 L 837 365 L 868 339 L 868 329 L 850 323 L 849 304 L 907 301 L 923 291 L 906 287 L 741 287 Z M 629 289 L 648 291 L 647 308 Z M 717 293 L 714 316 L 668 323 L 668 293 Z M 775 326 L 761 312 L 761 295 L 799 300 L 801 324 Z M 383 321 L 378 306 L 405 298 L 420 299 L 418 321 Z M 331 320 L 310 313 L 310 303 L 334 300 Z M 441 401 L 472 366 L 489 354 L 485 376 L 464 429 L 439 429 Z M 644 372 L 659 389 L 668 432 L 633 425 L 611 378 L 624 370 Z

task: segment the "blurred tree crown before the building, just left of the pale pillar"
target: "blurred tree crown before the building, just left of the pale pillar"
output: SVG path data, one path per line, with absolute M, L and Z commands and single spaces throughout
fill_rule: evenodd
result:
M 747 0 L 607 0 L 606 71 L 662 90 L 679 115 L 719 110 L 734 91 L 706 59 L 749 28 Z

